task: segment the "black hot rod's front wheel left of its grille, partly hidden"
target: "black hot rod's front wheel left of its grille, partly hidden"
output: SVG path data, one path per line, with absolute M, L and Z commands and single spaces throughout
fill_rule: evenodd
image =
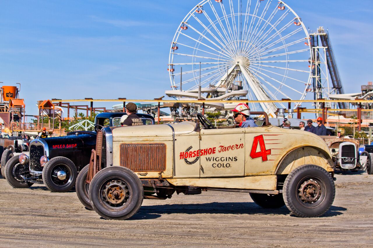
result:
M 28 174 L 28 164 L 26 165 L 21 165 L 19 163 L 19 155 L 14 156 L 13 158 L 9 159 L 9 161 L 5 165 L 5 175 L 6 175 L 6 181 L 12 187 L 14 188 L 28 188 L 30 187 L 33 183 L 32 182 L 26 182 L 23 178 L 22 175 Z

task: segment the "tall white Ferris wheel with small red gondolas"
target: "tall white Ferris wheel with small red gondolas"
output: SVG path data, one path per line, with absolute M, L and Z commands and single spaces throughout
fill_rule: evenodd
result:
M 173 90 L 244 89 L 250 100 L 302 100 L 312 90 L 310 61 L 308 31 L 283 1 L 204 0 L 178 26 L 167 70 Z M 207 92 L 203 97 L 216 96 Z

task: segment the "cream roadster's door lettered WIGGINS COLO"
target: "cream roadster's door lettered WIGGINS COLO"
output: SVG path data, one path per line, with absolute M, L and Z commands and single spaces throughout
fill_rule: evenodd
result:
M 200 177 L 244 175 L 244 128 L 203 129 L 200 149 Z

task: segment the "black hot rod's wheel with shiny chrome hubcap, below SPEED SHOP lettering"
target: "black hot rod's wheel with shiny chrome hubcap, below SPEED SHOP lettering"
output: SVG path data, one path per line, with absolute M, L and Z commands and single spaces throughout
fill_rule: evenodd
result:
M 75 186 L 78 171 L 68 158 L 55 157 L 43 168 L 43 181 L 50 191 L 67 192 Z

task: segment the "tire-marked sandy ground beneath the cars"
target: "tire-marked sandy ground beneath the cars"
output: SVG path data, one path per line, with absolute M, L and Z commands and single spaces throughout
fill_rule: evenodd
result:
M 266 210 L 245 193 L 207 191 L 144 200 L 130 220 L 104 220 L 75 192 L 15 189 L 0 179 L 0 246 L 373 247 L 373 175 L 336 175 L 323 217 Z

